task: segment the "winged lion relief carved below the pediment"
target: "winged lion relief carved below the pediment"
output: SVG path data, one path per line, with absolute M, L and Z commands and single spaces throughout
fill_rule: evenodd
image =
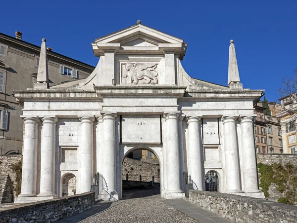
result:
M 138 84 L 139 80 L 145 79 L 145 83 L 148 84 L 157 84 L 158 79 L 156 72 L 157 64 L 148 65 L 141 63 L 130 63 L 128 62 L 125 66 L 126 74 L 123 74 L 123 77 L 131 76 L 132 83 Z

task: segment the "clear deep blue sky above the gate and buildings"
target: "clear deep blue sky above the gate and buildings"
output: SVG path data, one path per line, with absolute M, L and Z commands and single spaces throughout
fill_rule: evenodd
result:
M 278 98 L 284 76 L 297 67 L 297 1 L 1 1 L 0 32 L 93 66 L 94 39 L 140 19 L 184 39 L 183 67 L 195 78 L 227 85 L 229 40 L 234 39 L 244 88 Z

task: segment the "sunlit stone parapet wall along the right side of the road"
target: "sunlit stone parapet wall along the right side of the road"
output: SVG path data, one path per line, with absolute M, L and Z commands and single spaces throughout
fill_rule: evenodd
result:
M 189 191 L 189 201 L 236 223 L 296 223 L 297 207 L 260 198 Z

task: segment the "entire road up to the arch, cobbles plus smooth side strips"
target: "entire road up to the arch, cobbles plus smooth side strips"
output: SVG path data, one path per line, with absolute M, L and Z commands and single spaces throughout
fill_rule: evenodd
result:
M 159 189 L 124 193 L 118 202 L 99 202 L 58 223 L 230 223 L 184 199 L 166 200 Z

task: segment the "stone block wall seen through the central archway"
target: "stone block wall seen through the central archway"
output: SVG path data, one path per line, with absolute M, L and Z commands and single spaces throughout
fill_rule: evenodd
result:
M 159 183 L 159 169 L 158 164 L 152 164 L 147 162 L 142 162 L 137 159 L 125 158 L 123 162 L 123 180 L 126 180 L 126 174 L 128 174 L 129 181 L 141 181 L 150 182 L 152 181 L 152 176 L 154 176 L 154 182 Z

